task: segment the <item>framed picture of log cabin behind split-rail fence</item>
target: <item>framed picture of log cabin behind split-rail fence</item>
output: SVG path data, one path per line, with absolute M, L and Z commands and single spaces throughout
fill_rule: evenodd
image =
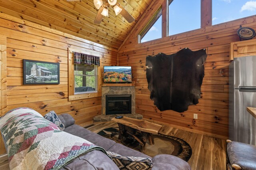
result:
M 23 84 L 60 84 L 60 63 L 24 59 Z

